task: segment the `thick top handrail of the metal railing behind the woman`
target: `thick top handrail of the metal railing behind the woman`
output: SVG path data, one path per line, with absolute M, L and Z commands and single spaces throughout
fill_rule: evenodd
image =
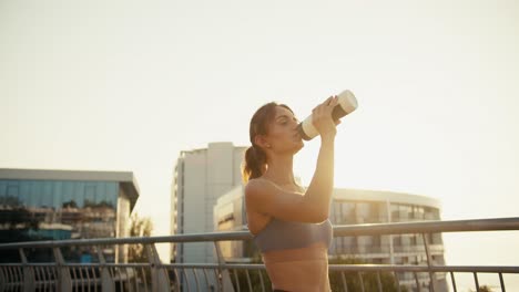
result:
M 465 231 L 503 231 L 519 230 L 519 217 L 492 218 L 476 220 L 449 220 L 449 221 L 415 221 L 398 223 L 373 223 L 334 226 L 334 236 L 377 236 L 400 233 L 435 233 L 435 232 L 465 232 Z M 60 241 L 29 241 L 0 244 L 0 249 L 13 248 L 58 248 L 68 246 L 103 246 L 103 244 L 149 244 L 149 243 L 182 243 L 201 241 L 248 240 L 251 232 L 207 232 L 175 234 L 166 237 L 135 237 L 135 238 L 100 238 L 74 239 Z

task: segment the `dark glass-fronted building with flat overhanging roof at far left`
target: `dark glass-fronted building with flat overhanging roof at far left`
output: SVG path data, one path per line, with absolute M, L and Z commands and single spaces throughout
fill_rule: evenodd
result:
M 138 198 L 132 173 L 1 168 L 0 241 L 128 237 Z M 63 251 L 70 261 L 85 253 L 93 251 Z M 128 257 L 122 246 L 103 253 L 112 262 Z

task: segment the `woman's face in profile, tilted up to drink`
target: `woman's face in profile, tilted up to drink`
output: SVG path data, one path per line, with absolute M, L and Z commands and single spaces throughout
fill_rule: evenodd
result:
M 304 146 L 297 132 L 299 122 L 289 109 L 283 106 L 276 106 L 275 111 L 274 119 L 268 126 L 268 135 L 266 135 L 266 140 L 271 145 L 269 149 L 295 154 Z

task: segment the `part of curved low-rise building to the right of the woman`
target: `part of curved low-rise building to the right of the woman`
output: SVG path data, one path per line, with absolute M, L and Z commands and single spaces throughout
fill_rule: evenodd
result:
M 440 220 L 437 199 L 393 191 L 336 189 L 330 210 L 333 225 L 360 225 Z M 441 233 L 428 234 L 432 264 L 445 264 Z M 330 258 L 346 257 L 366 263 L 427 265 L 421 234 L 335 238 Z M 417 291 L 413 273 L 400 273 L 399 283 Z M 429 275 L 418 274 L 419 291 L 428 291 Z M 437 291 L 447 291 L 445 274 L 436 275 Z

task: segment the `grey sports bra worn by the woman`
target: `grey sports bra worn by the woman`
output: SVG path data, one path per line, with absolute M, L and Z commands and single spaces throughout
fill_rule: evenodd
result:
M 305 248 L 319 241 L 329 248 L 332 238 L 333 229 L 329 220 L 322 223 L 303 223 L 272 218 L 254 237 L 254 241 L 260 250 L 265 252 Z

